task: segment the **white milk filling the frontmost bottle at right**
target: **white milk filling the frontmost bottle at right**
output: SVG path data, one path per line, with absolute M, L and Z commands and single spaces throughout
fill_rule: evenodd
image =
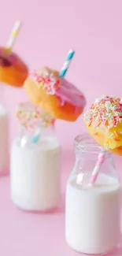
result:
M 103 254 L 120 242 L 120 185 L 99 174 L 94 187 L 81 187 L 76 177 L 68 181 L 65 237 L 74 250 Z

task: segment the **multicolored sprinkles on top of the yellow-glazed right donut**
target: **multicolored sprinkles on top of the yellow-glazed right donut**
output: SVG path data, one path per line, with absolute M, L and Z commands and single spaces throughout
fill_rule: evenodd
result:
M 98 128 L 101 124 L 105 124 L 108 128 L 116 127 L 117 124 L 122 123 L 122 105 L 120 98 L 112 98 L 109 96 L 102 96 L 97 98 L 91 108 L 84 114 L 84 121 L 91 126 L 95 121 L 95 127 Z M 122 131 L 120 131 L 122 134 Z M 118 134 L 116 133 L 116 137 Z M 116 139 L 118 141 L 118 139 Z

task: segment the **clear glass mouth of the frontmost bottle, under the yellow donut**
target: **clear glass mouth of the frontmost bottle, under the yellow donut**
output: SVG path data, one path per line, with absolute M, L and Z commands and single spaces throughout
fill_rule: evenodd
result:
M 83 133 L 82 135 L 77 135 L 74 140 L 74 147 L 76 152 L 84 152 L 84 153 L 94 153 L 99 154 L 104 152 L 104 149 L 95 142 L 94 139 L 87 133 Z M 111 154 L 109 151 L 105 150 L 105 154 Z

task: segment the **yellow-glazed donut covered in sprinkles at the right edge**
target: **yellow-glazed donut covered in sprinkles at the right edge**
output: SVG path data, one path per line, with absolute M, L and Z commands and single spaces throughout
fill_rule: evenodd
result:
M 122 106 L 120 98 L 97 98 L 83 117 L 90 135 L 114 154 L 122 155 Z

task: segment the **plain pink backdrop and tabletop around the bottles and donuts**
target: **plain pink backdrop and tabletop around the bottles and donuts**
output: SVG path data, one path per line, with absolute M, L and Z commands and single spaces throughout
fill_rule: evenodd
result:
M 23 20 L 23 27 L 14 50 L 30 69 L 49 65 L 60 70 L 68 50 L 73 48 L 76 54 L 66 77 L 86 95 L 87 106 L 103 94 L 121 96 L 121 0 L 2 0 L 1 45 L 6 44 L 17 19 Z M 13 139 L 17 133 L 15 106 L 26 96 L 23 89 L 13 87 L 5 87 L 5 96 L 10 114 L 10 139 Z M 82 117 L 71 124 L 57 121 L 57 133 L 65 150 L 72 149 L 74 137 L 83 131 Z M 63 194 L 72 156 L 67 154 L 63 158 Z M 117 165 L 120 169 L 121 158 Z M 9 177 L 0 180 L 0 204 L 1 255 L 77 255 L 65 243 L 63 205 L 50 215 L 20 212 L 9 199 Z M 121 249 L 116 255 L 122 255 Z

